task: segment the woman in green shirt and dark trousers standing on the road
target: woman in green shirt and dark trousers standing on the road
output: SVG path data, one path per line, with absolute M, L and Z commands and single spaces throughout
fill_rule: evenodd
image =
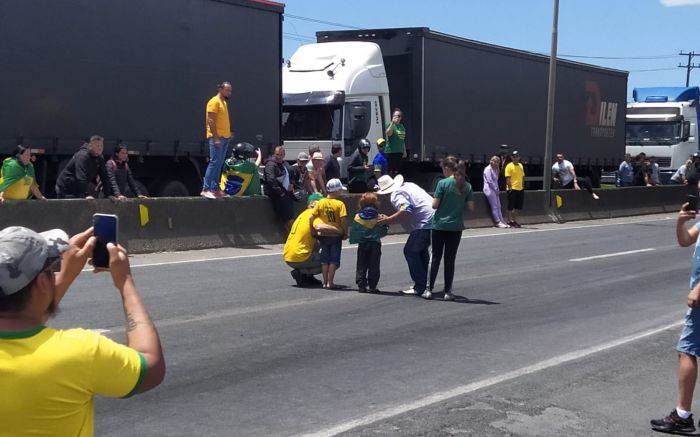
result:
M 423 297 L 430 299 L 435 286 L 435 279 L 440 270 L 443 250 L 445 252 L 445 300 L 454 300 L 452 294 L 452 280 L 455 275 L 455 259 L 457 249 L 462 240 L 464 229 L 464 205 L 474 211 L 472 200 L 472 186 L 466 180 L 466 166 L 454 156 L 448 156 L 442 160 L 442 173 L 445 179 L 441 180 L 435 188 L 433 195 L 432 246 L 433 257 L 430 266 L 430 288 L 428 295 Z

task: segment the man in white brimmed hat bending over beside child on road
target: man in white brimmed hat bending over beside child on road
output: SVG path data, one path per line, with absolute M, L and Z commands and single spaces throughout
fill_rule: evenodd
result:
M 407 217 L 411 233 L 406 240 L 403 254 L 408 264 L 408 271 L 413 286 L 402 293 L 422 295 L 428 288 L 428 263 L 430 262 L 430 230 L 435 210 L 433 198 L 424 189 L 412 182 L 404 182 L 400 174 L 392 178 L 384 175 L 377 181 L 377 194 L 390 195 L 391 205 L 396 212 L 378 220 L 379 223 L 391 223 L 401 217 Z

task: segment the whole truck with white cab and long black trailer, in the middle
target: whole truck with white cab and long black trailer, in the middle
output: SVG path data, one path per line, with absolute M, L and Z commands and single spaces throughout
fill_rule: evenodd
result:
M 543 166 L 553 163 L 543 156 L 548 56 L 426 27 L 318 32 L 316 40 L 283 67 L 288 156 L 340 145 L 347 157 L 360 139 L 385 136 L 397 107 L 407 130 L 405 177 L 430 189 L 451 154 L 467 162 L 480 189 L 484 166 L 507 144 L 523 157 L 528 185 L 541 186 Z M 595 185 L 624 155 L 627 75 L 557 60 L 553 151 Z

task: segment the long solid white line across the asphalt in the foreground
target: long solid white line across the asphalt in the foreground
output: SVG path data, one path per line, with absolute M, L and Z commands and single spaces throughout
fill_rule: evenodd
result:
M 470 384 L 465 384 L 461 385 L 458 387 L 455 387 L 451 390 L 443 391 L 443 392 L 438 392 L 431 394 L 429 396 L 426 396 L 421 399 L 417 399 L 413 402 L 408 402 L 405 404 L 397 405 L 394 407 L 387 408 L 382 411 L 378 411 L 376 413 L 370 414 L 368 416 L 354 419 L 354 420 L 349 420 L 347 422 L 340 423 L 338 425 L 334 425 L 330 428 L 326 428 L 320 431 L 315 431 L 315 432 L 310 432 L 306 434 L 302 434 L 303 437 L 326 437 L 326 436 L 334 436 L 343 432 L 347 432 L 351 429 L 360 427 L 360 426 L 366 426 L 366 425 L 371 425 L 373 423 L 389 419 L 394 416 L 398 416 L 400 414 L 407 413 L 409 411 L 417 410 L 419 408 L 424 408 L 428 407 L 430 405 L 434 405 L 439 402 L 446 401 L 448 399 L 452 399 L 458 396 L 463 396 L 472 392 L 475 392 L 477 390 L 481 390 L 483 388 L 488 388 L 491 386 L 494 386 L 496 384 L 500 384 L 503 382 L 511 381 L 513 379 L 519 378 L 521 376 L 526 376 L 530 375 L 532 373 L 539 372 L 541 370 L 546 370 L 551 367 L 558 366 L 560 364 L 565 364 L 571 361 L 575 360 L 580 360 L 582 358 L 586 358 L 590 355 L 596 354 L 598 352 L 603 352 L 609 349 L 613 349 L 618 346 L 625 345 L 627 343 L 631 343 L 637 340 L 641 340 L 643 338 L 658 334 L 663 331 L 667 331 L 669 329 L 673 328 L 678 328 L 683 324 L 683 321 L 678 321 L 675 323 L 671 323 L 665 326 L 662 326 L 660 328 L 655 328 L 655 329 L 650 329 L 644 332 L 641 332 L 639 334 L 633 334 L 629 335 L 626 337 L 619 338 L 617 340 L 612 340 L 606 343 L 599 344 L 597 346 L 592 346 L 589 348 L 581 349 L 578 351 L 566 353 L 563 355 L 559 355 L 544 361 L 540 361 L 538 363 L 532 364 L 530 366 L 522 367 L 520 369 L 512 370 L 510 372 L 506 372 L 497 376 L 493 376 L 491 378 L 486 378 L 482 379 L 480 381 L 472 382 Z

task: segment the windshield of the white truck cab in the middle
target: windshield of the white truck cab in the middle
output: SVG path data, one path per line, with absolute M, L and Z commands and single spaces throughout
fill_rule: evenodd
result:
M 282 109 L 282 138 L 291 141 L 340 140 L 340 112 L 340 106 L 285 106 Z

